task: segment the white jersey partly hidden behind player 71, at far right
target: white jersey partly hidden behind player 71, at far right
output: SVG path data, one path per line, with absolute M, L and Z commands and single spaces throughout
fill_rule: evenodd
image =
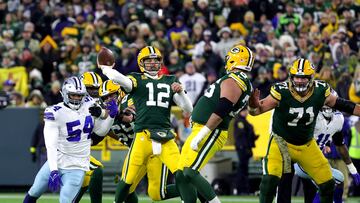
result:
M 338 111 L 333 114 L 329 123 L 321 112 L 318 114 L 314 130 L 314 138 L 320 149 L 323 149 L 327 142 L 332 142 L 332 136 L 342 130 L 343 124 L 344 116 Z

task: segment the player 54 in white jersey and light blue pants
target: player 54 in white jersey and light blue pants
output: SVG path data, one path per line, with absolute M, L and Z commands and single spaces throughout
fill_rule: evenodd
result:
M 117 112 L 107 119 L 94 119 L 89 113 L 93 101 L 85 101 L 86 88 L 77 77 L 65 80 L 63 102 L 44 112 L 44 138 L 48 161 L 35 177 L 24 202 L 36 200 L 49 188 L 60 190 L 60 202 L 73 202 L 89 170 L 93 137 L 105 136 Z

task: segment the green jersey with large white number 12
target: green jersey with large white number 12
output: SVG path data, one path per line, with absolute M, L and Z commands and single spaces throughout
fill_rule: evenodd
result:
M 152 79 L 144 74 L 131 73 L 132 97 L 136 109 L 135 132 L 144 129 L 171 129 L 170 107 L 175 92 L 171 84 L 178 82 L 173 75 Z

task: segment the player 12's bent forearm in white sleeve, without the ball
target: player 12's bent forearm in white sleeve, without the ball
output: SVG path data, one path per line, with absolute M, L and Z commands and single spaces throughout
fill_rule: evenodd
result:
M 171 85 L 171 89 L 173 89 L 173 91 L 176 92 L 173 98 L 175 104 L 178 105 L 183 111 L 187 113 L 191 113 L 193 110 L 191 100 L 185 93 L 181 84 L 174 82 Z

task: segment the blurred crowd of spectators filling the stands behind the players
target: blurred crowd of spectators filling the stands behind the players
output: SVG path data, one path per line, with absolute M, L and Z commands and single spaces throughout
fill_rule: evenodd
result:
M 0 0 L 0 20 L 0 71 L 23 66 L 28 76 L 28 95 L 16 91 L 11 74 L 3 78 L 11 106 L 62 101 L 64 78 L 99 72 L 102 46 L 116 53 L 118 71 L 139 71 L 137 53 L 146 45 L 162 52 L 162 74 L 200 78 L 200 90 L 184 81 L 194 103 L 224 74 L 234 44 L 256 52 L 249 76 L 262 97 L 287 78 L 294 59 L 306 57 L 317 78 L 360 102 L 359 0 Z

